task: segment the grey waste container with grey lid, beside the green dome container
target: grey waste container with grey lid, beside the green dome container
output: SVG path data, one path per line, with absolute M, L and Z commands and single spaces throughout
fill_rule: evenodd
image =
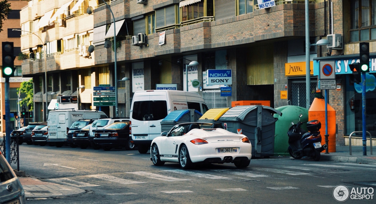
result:
M 252 157 L 273 156 L 276 109 L 269 106 L 235 106 L 224 113 L 219 121 L 232 133 L 244 134 L 252 144 Z

